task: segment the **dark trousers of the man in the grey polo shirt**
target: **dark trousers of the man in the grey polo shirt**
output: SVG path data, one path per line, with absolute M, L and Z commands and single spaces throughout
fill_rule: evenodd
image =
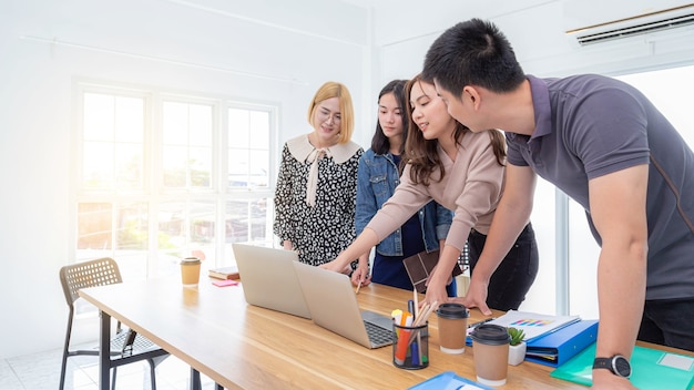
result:
M 694 298 L 646 300 L 639 340 L 694 351 Z

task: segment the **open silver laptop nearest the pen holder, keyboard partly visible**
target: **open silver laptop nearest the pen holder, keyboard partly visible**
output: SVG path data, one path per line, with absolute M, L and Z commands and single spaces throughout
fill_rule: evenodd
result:
M 392 343 L 392 319 L 360 311 L 349 277 L 294 263 L 314 322 L 366 348 Z

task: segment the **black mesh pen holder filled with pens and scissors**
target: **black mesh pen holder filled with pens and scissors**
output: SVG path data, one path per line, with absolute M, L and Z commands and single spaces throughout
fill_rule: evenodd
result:
M 416 327 L 392 324 L 392 365 L 406 370 L 429 367 L 429 322 Z

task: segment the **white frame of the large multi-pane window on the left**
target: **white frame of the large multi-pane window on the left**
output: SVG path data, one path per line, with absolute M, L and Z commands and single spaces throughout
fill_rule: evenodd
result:
M 84 134 L 84 94 L 102 93 L 118 96 L 135 96 L 143 99 L 144 115 L 144 135 L 142 143 L 142 188 L 127 189 L 114 187 L 110 189 L 92 189 L 83 186 L 83 145 Z M 115 218 L 111 220 L 111 247 L 108 249 L 84 250 L 79 249 L 79 205 L 81 203 L 110 203 L 112 205 L 112 216 L 116 216 L 120 205 L 129 203 L 144 203 L 147 211 L 147 243 L 146 249 L 143 249 L 143 256 L 146 258 L 145 278 L 150 276 L 161 276 L 159 257 L 166 253 L 166 249 L 159 248 L 157 233 L 160 232 L 161 206 L 167 202 L 182 202 L 188 206 L 194 203 L 208 203 L 214 207 L 215 236 L 211 252 L 214 261 L 206 261 L 204 268 L 225 266 L 234 264 L 234 256 L 231 245 L 227 243 L 226 228 L 226 205 L 229 202 L 242 201 L 253 202 L 254 199 L 267 199 L 267 208 L 265 211 L 265 233 L 262 240 L 254 242 L 261 245 L 272 246 L 274 236 L 272 232 L 272 220 L 274 216 L 274 207 L 272 198 L 274 196 L 274 186 L 277 175 L 277 154 L 278 145 L 278 115 L 279 104 L 273 102 L 257 102 L 225 95 L 214 95 L 210 93 L 198 92 L 180 92 L 165 88 L 153 88 L 143 85 L 124 85 L 114 82 L 95 82 L 92 80 L 75 80 L 73 83 L 73 152 L 72 153 L 72 194 L 70 205 L 71 236 L 69 253 L 70 258 L 76 261 L 99 257 L 105 254 L 119 260 L 119 253 L 114 237 L 118 235 L 118 226 Z M 164 186 L 164 165 L 163 165 L 163 106 L 164 102 L 182 102 L 187 104 L 205 104 L 212 106 L 212 166 L 211 182 L 208 188 L 167 188 Z M 268 119 L 268 173 L 266 187 L 241 186 L 232 187 L 228 185 L 228 163 L 227 154 L 229 150 L 228 134 L 228 111 L 231 109 L 241 109 L 249 111 L 261 111 L 267 113 Z M 252 132 L 252 129 L 249 130 Z M 191 214 L 187 213 L 187 222 L 190 224 Z M 248 220 L 248 229 L 251 222 Z M 185 232 L 186 248 L 191 245 L 191 226 Z M 252 232 L 248 230 L 247 239 L 252 240 Z M 95 255 L 95 256 L 93 256 Z

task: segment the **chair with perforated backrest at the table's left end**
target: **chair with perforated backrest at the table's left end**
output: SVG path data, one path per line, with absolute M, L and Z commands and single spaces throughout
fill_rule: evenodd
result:
M 65 295 L 65 301 L 70 308 L 68 316 L 68 330 L 65 331 L 65 345 L 63 348 L 62 367 L 60 370 L 60 390 L 65 384 L 65 367 L 68 358 L 78 355 L 99 356 L 99 349 L 70 350 L 70 337 L 72 335 L 72 320 L 74 317 L 74 302 L 80 298 L 78 291 L 85 287 L 106 286 L 122 283 L 118 264 L 112 258 L 100 258 L 84 263 L 64 266 L 60 269 L 60 284 Z M 111 339 L 111 389 L 115 388 L 116 368 L 134 361 L 147 360 L 152 380 L 152 390 L 156 389 L 154 369 L 169 357 L 169 352 L 154 345 L 147 338 L 137 335 L 132 329 L 116 325 L 115 336 Z

